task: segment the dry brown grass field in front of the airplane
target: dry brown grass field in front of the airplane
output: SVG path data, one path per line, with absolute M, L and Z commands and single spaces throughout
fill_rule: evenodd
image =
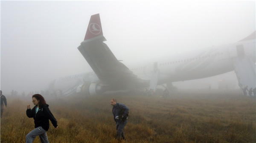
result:
M 169 98 L 141 93 L 45 97 L 58 121 L 51 143 L 117 143 L 111 98 L 129 107 L 123 143 L 256 143 L 256 100 L 237 90 L 180 90 Z M 1 143 L 24 143 L 34 129 L 26 116 L 32 99 L 6 95 Z M 40 143 L 36 137 L 34 143 Z

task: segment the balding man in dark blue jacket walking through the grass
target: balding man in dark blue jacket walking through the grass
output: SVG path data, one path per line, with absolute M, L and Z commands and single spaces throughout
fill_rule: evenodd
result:
M 112 98 L 110 103 L 113 106 L 112 113 L 116 122 L 116 139 L 125 140 L 123 130 L 127 124 L 129 108 L 122 103 L 116 103 L 115 98 Z

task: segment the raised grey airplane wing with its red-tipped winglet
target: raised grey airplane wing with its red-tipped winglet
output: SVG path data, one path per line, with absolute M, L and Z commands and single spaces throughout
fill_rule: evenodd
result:
M 129 81 L 141 82 L 128 67 L 116 59 L 104 41 L 106 39 L 102 33 L 99 14 L 92 15 L 84 41 L 78 49 L 98 76 L 101 84 L 125 88 Z

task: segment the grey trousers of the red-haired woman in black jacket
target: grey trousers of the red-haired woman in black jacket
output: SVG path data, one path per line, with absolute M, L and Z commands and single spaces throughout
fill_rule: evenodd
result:
M 26 143 L 33 143 L 35 137 L 39 135 L 41 143 L 49 143 L 46 130 L 44 130 L 41 126 L 33 129 L 31 132 L 26 135 Z

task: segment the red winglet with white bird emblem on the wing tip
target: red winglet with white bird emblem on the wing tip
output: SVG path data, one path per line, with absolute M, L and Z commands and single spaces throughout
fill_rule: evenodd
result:
M 84 40 L 92 39 L 97 36 L 103 36 L 102 26 L 99 18 L 99 14 L 94 14 L 90 18 L 90 22 L 84 37 Z

